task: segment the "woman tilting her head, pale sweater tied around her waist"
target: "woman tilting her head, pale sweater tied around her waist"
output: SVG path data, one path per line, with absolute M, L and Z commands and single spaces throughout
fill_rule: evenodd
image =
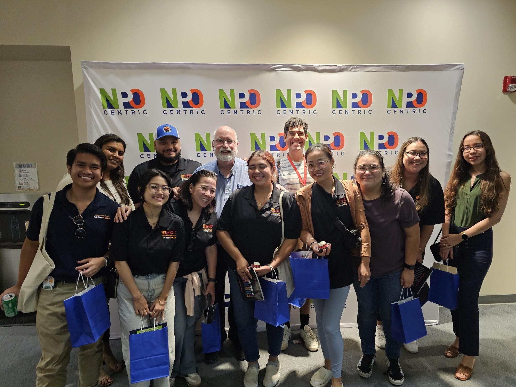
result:
M 201 384 L 193 348 L 195 328 L 202 316 L 206 296 L 211 297 L 212 304 L 215 302 L 216 187 L 217 175 L 200 169 L 181 185 L 179 200 L 171 203 L 174 214 L 183 220 L 185 250 L 173 284 L 175 360 L 170 378 L 179 375 L 191 387 Z

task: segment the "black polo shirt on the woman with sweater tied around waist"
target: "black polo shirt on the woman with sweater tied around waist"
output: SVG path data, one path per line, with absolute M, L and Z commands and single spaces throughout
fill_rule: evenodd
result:
M 185 252 L 184 259 L 179 264 L 176 277 L 183 277 L 193 272 L 199 272 L 206 266 L 206 247 L 215 245 L 217 236 L 215 226 L 217 224 L 217 213 L 214 211 L 208 214 L 204 209 L 193 224 L 188 217 L 187 208 L 182 202 L 171 203 L 172 211 L 178 215 L 185 226 Z

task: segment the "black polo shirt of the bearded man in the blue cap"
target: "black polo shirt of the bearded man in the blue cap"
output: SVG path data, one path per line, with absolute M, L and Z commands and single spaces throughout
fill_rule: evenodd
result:
M 196 162 L 194 160 L 188 160 L 186 158 L 180 157 L 178 162 L 172 165 L 163 165 L 159 162 L 157 157 L 152 160 L 148 160 L 141 164 L 138 164 L 134 167 L 133 172 L 129 176 L 129 180 L 127 181 L 127 191 L 129 191 L 129 196 L 133 199 L 133 203 L 141 202 L 140 192 L 138 192 L 138 182 L 143 173 L 147 172 L 149 169 L 159 169 L 160 171 L 165 172 L 172 184 L 171 188 L 180 186 L 184 181 L 188 180 L 193 172 L 199 168 L 202 164 Z M 172 200 L 172 195 L 170 195 L 170 199 L 167 203 L 165 203 L 165 208 L 170 209 L 170 202 Z

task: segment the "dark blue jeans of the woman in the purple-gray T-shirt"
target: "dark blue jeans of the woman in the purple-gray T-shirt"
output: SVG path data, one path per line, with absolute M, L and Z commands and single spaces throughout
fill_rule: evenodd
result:
M 376 316 L 380 314 L 385 333 L 385 356 L 398 359 L 401 342 L 391 336 L 391 302 L 399 301 L 401 271 L 382 277 L 371 277 L 364 287 L 360 287 L 355 276 L 353 287 L 358 301 L 358 333 L 362 352 L 375 354 Z

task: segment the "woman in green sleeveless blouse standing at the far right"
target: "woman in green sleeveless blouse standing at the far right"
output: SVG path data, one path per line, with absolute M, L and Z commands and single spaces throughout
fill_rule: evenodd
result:
M 457 267 L 460 279 L 458 307 L 451 311 L 456 337 L 444 351 L 447 358 L 464 354 L 455 374 L 460 380 L 471 377 L 478 356 L 478 295 L 493 259 L 492 227 L 502 219 L 510 184 L 487 133 L 466 133 L 444 192 L 446 220 L 440 250 L 442 259 Z M 456 245 L 458 256 L 454 256 Z

